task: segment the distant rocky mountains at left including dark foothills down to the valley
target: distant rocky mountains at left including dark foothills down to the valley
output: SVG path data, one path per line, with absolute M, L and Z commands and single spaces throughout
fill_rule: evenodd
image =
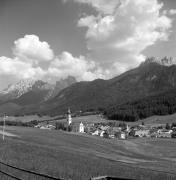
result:
M 37 113 L 42 102 L 55 97 L 75 82 L 76 79 L 71 76 L 57 81 L 55 85 L 41 80 L 21 80 L 0 92 L 0 112 L 12 115 Z

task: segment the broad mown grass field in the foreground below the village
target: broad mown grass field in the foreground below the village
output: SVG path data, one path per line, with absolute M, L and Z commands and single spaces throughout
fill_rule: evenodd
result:
M 174 175 L 149 170 L 175 172 L 175 139 L 108 140 L 23 127 L 7 127 L 7 132 L 16 137 L 8 136 L 2 141 L 0 136 L 0 160 L 17 167 L 73 180 L 98 175 L 176 179 Z M 24 179 L 40 179 L 0 167 Z M 0 174 L 0 179 L 7 178 Z

